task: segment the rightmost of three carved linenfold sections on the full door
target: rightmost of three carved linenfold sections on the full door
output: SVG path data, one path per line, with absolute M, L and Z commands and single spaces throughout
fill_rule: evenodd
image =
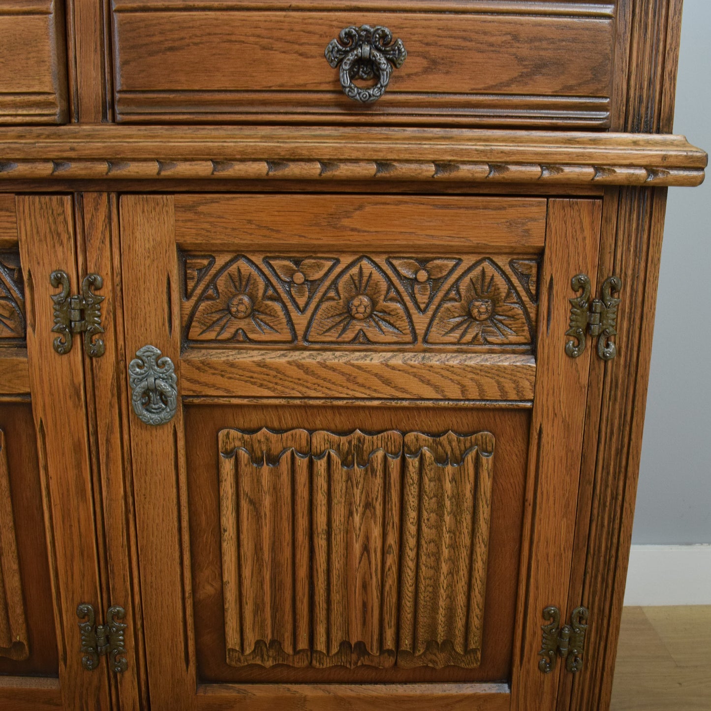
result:
M 405 435 L 397 664 L 481 662 L 493 435 Z

